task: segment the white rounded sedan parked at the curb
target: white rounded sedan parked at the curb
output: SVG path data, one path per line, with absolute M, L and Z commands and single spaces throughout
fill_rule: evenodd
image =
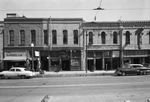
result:
M 9 71 L 2 71 L 0 73 L 0 78 L 31 78 L 34 76 L 34 73 L 32 71 L 29 71 L 26 68 L 23 67 L 13 67 Z

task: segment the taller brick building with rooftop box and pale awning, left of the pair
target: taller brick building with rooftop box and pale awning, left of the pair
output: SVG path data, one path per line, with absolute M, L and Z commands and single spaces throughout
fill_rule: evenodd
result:
M 16 14 L 7 15 L 4 19 L 5 68 L 32 68 L 33 61 L 34 70 L 39 63 L 47 71 L 82 70 L 82 22 L 82 18 L 26 18 L 17 17 Z

